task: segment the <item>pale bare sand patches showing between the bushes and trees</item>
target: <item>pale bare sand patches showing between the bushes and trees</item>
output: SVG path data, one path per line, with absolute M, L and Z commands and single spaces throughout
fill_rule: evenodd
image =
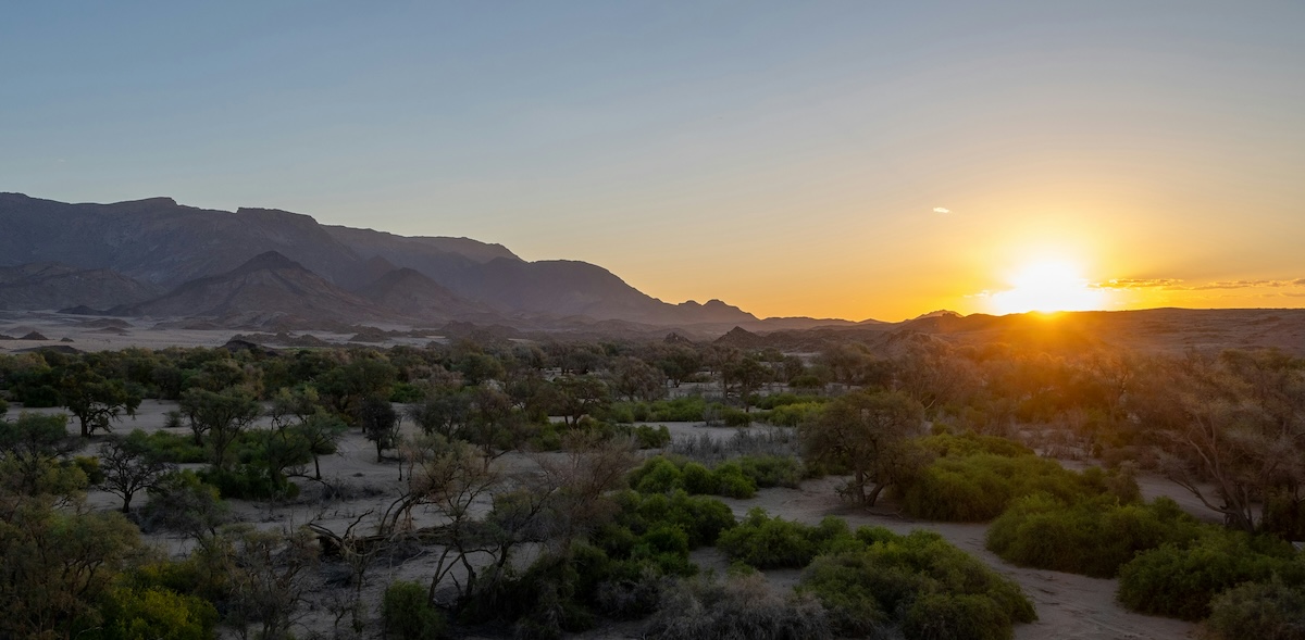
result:
M 175 408 L 175 403 L 145 400 L 136 418 L 127 418 L 115 430 L 127 433 L 137 428 L 145 430 L 164 429 L 164 413 L 172 408 Z M 21 407 L 13 407 L 10 416 L 18 411 Z M 37 411 L 50 413 L 61 409 Z M 737 431 L 736 428 L 706 428 L 688 422 L 668 424 L 667 426 L 675 438 L 689 438 L 706 433 L 711 434 L 713 438 L 724 439 Z M 174 429 L 174 431 L 188 434 L 185 429 Z M 95 444 L 91 443 L 87 451 L 94 451 L 94 448 Z M 506 469 L 521 469 L 530 467 L 532 461 L 522 454 L 508 454 L 500 458 L 496 464 Z M 371 523 L 375 523 L 375 517 L 384 512 L 385 507 L 398 495 L 398 463 L 393 460 L 378 463 L 372 443 L 363 439 L 360 434 L 351 433 L 341 442 L 339 452 L 322 458 L 321 465 L 324 480 L 335 485 L 347 485 L 359 497 L 346 501 L 317 501 L 313 499 L 313 495 L 318 493 L 317 484 L 301 480 L 299 484 L 304 487 L 304 493 L 300 499 L 287 504 L 234 501 L 238 516 L 260 528 L 299 527 L 315 523 L 337 533 L 343 533 L 352 521 L 363 516 L 359 531 L 369 533 L 368 529 Z M 1081 465 L 1081 463 L 1075 465 Z M 766 489 L 758 491 L 757 497 L 752 499 L 723 498 L 723 501 L 737 516 L 743 516 L 749 508 L 762 507 L 773 515 L 810 524 L 827 515 L 837 515 L 844 517 L 853 528 L 882 525 L 899 533 L 912 529 L 938 532 L 954 545 L 975 554 L 1001 574 L 1019 583 L 1034 600 L 1039 620 L 1018 626 L 1015 628 L 1017 639 L 1181 639 L 1197 636 L 1197 627 L 1190 623 L 1126 611 L 1114 601 L 1116 580 L 1028 570 L 1005 563 L 984 549 L 985 524 L 912 521 L 889 515 L 895 511 L 891 503 L 881 503 L 876 508 L 876 514 L 883 515 L 851 510 L 839 502 L 834 491 L 834 487 L 843 480 L 831 477 L 806 481 L 800 489 Z M 1143 476 L 1139 481 L 1147 498 L 1169 495 L 1193 514 L 1208 517 L 1210 512 L 1181 487 L 1151 476 Z M 102 508 L 116 508 L 120 504 L 115 495 L 103 491 L 91 493 L 89 501 Z M 137 506 L 144 502 L 144 497 L 136 499 Z M 485 507 L 487 504 L 482 504 L 482 508 Z M 438 521 L 436 516 L 429 514 L 416 515 L 418 525 Z M 187 546 L 183 540 L 175 537 L 150 536 L 149 540 L 172 551 L 181 551 Z M 694 559 L 705 568 L 723 570 L 726 566 L 722 554 L 714 549 L 696 551 Z M 384 585 L 395 579 L 425 583 L 433 572 L 436 557 L 431 550 L 422 551 L 415 557 L 395 558 L 394 562 L 378 559 L 368 572 L 363 589 L 364 600 L 378 602 Z M 324 566 L 320 571 L 322 577 L 318 577 L 313 585 L 316 592 L 307 602 L 300 619 L 304 631 L 317 631 L 330 636 L 335 619 L 333 607 L 345 597 L 347 589 L 338 584 L 328 584 L 326 577 L 339 576 L 342 570 L 341 566 Z M 767 576 L 776 588 L 788 588 L 796 584 L 800 572 L 775 571 Z M 375 611 L 369 615 L 375 622 Z M 369 628 L 375 627 L 375 624 L 369 624 Z M 579 637 L 638 637 L 638 630 L 637 623 L 617 624 L 591 631 Z M 301 636 L 304 635 L 307 633 Z

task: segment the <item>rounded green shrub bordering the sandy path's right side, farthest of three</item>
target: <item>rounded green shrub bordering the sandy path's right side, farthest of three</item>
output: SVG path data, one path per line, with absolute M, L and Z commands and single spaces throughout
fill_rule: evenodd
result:
M 1101 497 L 1069 506 L 1047 494 L 1017 499 L 988 528 L 988 550 L 1023 567 L 1114 577 L 1139 551 L 1185 545 L 1202 525 L 1169 498 L 1120 504 Z

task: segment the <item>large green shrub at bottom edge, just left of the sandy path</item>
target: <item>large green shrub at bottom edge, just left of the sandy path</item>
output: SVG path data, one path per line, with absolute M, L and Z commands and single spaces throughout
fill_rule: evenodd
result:
M 1014 623 L 1036 619 L 1019 585 L 937 533 L 861 528 L 860 549 L 838 540 L 844 550 L 817 557 L 799 585 L 825 605 L 838 635 L 900 626 L 907 637 L 1006 639 Z

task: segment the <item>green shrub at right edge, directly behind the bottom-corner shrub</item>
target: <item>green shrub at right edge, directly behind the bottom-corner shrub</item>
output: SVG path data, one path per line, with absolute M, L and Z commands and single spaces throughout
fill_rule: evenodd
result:
M 1219 593 L 1275 575 L 1288 585 L 1305 584 L 1305 563 L 1291 545 L 1208 527 L 1190 545 L 1163 545 L 1124 564 L 1117 596 L 1134 611 L 1199 620 Z

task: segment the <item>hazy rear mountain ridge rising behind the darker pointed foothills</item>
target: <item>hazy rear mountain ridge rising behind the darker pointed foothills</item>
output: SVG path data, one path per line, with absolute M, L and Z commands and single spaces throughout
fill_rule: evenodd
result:
M 275 252 L 331 284 L 337 293 L 354 296 L 368 296 L 367 288 L 394 269 L 410 269 L 459 298 L 462 306 L 454 305 L 458 313 L 485 309 L 505 318 L 525 314 L 536 323 L 577 315 L 650 326 L 757 321 L 719 301 L 663 302 L 586 262 L 527 262 L 496 244 L 328 227 L 311 216 L 273 209 L 215 211 L 171 198 L 72 205 L 0 193 L 0 267 L 59 262 L 84 271 L 110 270 L 154 292 L 224 276 L 260 254 Z M 115 296 L 114 306 L 123 309 L 196 312 L 184 305 L 144 305 L 127 291 Z M 54 308 L 104 306 L 103 298 L 91 300 L 63 287 L 54 287 L 48 297 L 57 302 Z M 0 297 L 0 308 L 9 300 Z M 452 304 L 452 298 L 446 301 Z M 375 301 L 368 298 L 368 304 Z M 329 308 L 300 306 L 305 312 Z

